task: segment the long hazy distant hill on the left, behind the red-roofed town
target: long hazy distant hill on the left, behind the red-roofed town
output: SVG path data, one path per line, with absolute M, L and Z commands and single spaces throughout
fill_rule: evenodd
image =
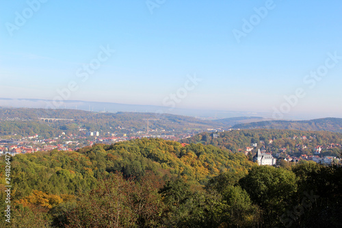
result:
M 65 118 L 73 121 L 45 123 L 39 118 Z M 88 112 L 68 109 L 42 108 L 0 108 L 0 136 L 18 134 L 29 136 L 58 136 L 62 131 L 75 134 L 79 128 L 103 133 L 116 132 L 130 134 L 135 131 L 146 131 L 146 119 L 150 129 L 165 129 L 181 134 L 188 131 L 205 131 L 209 128 L 224 127 L 222 123 L 204 121 L 190 116 L 173 114 L 155 114 L 148 112 Z

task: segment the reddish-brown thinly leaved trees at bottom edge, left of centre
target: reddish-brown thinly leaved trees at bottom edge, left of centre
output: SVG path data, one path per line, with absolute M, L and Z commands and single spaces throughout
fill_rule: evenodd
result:
M 149 177 L 135 182 L 117 173 L 101 179 L 96 189 L 67 212 L 64 226 L 158 227 L 163 204 L 157 194 L 158 179 Z

